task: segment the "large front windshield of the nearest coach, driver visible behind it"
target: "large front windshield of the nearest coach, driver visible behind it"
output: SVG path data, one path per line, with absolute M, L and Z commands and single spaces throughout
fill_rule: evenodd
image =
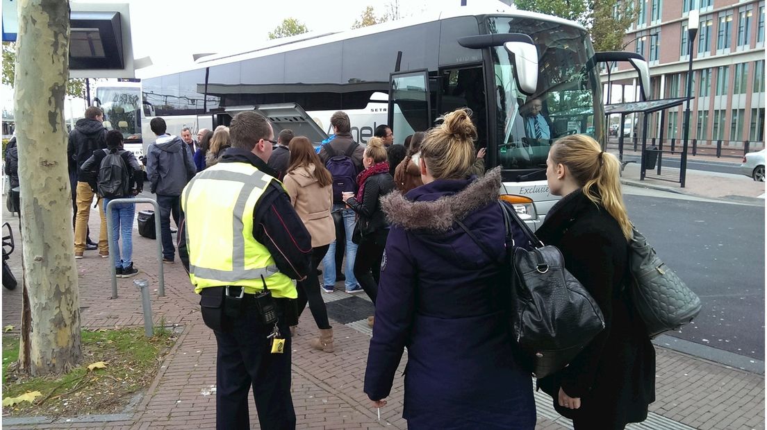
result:
M 491 33 L 528 34 L 538 48 L 538 89 L 533 96 L 518 90 L 513 61 L 504 47 L 492 48 L 492 62 L 498 163 L 507 180 L 543 179 L 548 150 L 557 138 L 601 135 L 604 115 L 598 70 L 593 67 L 594 48 L 584 30 L 559 22 L 488 19 Z

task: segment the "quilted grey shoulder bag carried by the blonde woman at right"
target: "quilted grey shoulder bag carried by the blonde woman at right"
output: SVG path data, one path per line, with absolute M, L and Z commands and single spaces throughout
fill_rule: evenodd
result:
M 629 269 L 634 282 L 630 298 L 647 334 L 656 337 L 693 321 L 700 312 L 700 298 L 687 288 L 636 228 L 629 243 Z

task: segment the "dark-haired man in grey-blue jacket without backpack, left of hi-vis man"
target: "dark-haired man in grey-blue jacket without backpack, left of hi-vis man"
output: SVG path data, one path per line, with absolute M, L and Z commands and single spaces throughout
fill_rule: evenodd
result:
M 151 191 L 160 205 L 160 234 L 163 239 L 163 262 L 173 263 L 176 247 L 170 235 L 170 216 L 181 224 L 181 191 L 196 173 L 189 145 L 178 136 L 166 133 L 165 120 L 159 116 L 150 121 L 157 140 L 146 149 L 146 174 Z

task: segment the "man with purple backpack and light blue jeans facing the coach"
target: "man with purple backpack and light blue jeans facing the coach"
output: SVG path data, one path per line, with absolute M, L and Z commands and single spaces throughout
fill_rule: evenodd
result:
M 323 145 L 320 150 L 319 155 L 323 163 L 327 163 L 328 159 L 331 158 L 331 151 L 328 151 L 328 146 L 332 148 L 334 154 L 341 155 L 345 154 L 352 145 L 357 145 L 357 142 L 354 142 L 354 138 L 351 137 L 351 122 L 349 121 L 349 116 L 347 116 L 346 112 L 335 112 L 333 116 L 331 116 L 331 125 L 333 125 L 335 137 L 330 142 Z M 362 165 L 362 155 L 364 152 L 365 148 L 362 145 L 357 145 L 357 148 L 355 148 L 351 154 L 351 161 L 354 162 L 354 166 L 357 168 L 357 174 L 364 170 L 364 166 Z M 354 210 L 346 207 L 343 200 L 333 202 L 333 212 L 341 213 L 342 217 L 342 220 L 339 219 L 340 217 L 333 217 L 333 220 L 336 222 L 336 237 L 346 236 L 346 279 L 344 280 L 346 291 L 362 291 L 362 288 L 357 286 L 357 278 L 354 277 L 353 271 L 354 258 L 357 256 L 357 244 L 351 241 L 351 234 L 354 233 L 354 219 L 356 215 L 354 214 Z M 344 231 L 344 233 L 341 233 L 341 231 Z M 334 240 L 328 249 L 328 253 L 325 254 L 325 258 L 322 260 L 322 288 L 324 292 L 333 292 L 337 280 L 336 270 L 340 270 L 340 268 L 337 267 L 339 264 L 337 264 L 335 258 L 336 244 L 337 240 Z

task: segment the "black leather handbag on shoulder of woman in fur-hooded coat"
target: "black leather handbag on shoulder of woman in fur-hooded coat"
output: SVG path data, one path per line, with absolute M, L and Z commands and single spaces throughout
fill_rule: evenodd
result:
M 604 316 L 586 288 L 565 269 L 559 249 L 544 246 L 513 207 L 502 202 L 500 207 L 507 243 L 512 243 L 502 278 L 511 298 L 509 330 L 517 360 L 542 378 L 565 368 L 604 329 Z M 459 226 L 495 260 L 463 223 Z M 515 226 L 525 232 L 529 249 L 514 243 Z

